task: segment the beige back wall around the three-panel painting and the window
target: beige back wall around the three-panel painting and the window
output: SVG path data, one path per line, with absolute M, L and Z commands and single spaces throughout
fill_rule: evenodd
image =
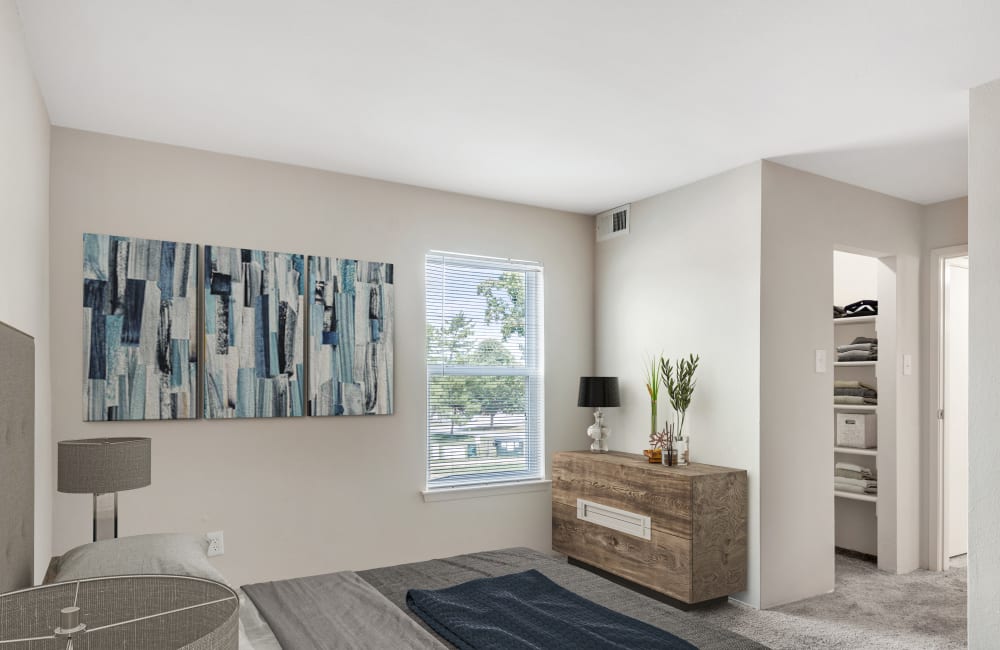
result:
M 583 448 L 593 368 L 593 221 L 411 186 L 62 128 L 52 133 L 53 428 L 153 439 L 121 534 L 224 530 L 234 584 L 500 548 L 550 548 L 550 493 L 425 503 L 423 263 L 429 249 L 545 265 L 547 454 Z M 81 421 L 81 235 L 103 232 L 391 261 L 396 414 Z M 89 541 L 90 498 L 58 494 L 56 553 Z

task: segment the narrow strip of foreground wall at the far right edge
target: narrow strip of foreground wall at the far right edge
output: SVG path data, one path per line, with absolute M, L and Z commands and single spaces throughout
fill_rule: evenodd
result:
M 969 96 L 969 648 L 1000 637 L 1000 80 Z

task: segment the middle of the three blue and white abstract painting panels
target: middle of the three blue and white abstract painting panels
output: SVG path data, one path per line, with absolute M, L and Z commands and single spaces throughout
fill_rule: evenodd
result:
M 303 414 L 305 258 L 205 247 L 205 417 Z

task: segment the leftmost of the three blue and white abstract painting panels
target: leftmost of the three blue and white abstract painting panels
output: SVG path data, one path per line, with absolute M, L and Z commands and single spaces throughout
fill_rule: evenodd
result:
M 83 235 L 83 419 L 197 417 L 194 244 Z

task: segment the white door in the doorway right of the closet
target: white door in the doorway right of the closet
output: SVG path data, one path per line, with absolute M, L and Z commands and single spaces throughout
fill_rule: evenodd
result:
M 969 550 L 969 258 L 945 264 L 944 442 L 947 557 Z

